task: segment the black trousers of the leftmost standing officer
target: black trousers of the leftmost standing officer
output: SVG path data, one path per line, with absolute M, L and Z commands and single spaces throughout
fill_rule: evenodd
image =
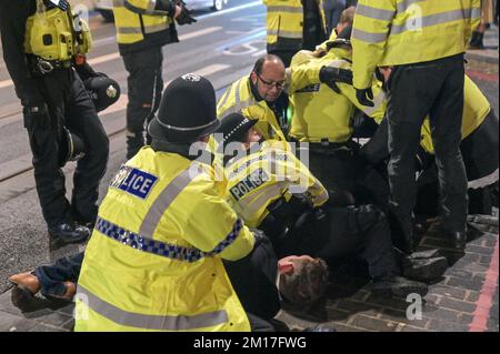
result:
M 39 79 L 50 112 L 50 122 L 24 114 L 33 153 L 34 180 L 40 204 L 49 226 L 77 219 L 97 218 L 99 182 L 108 163 L 109 141 L 96 108 L 72 69 L 56 70 Z M 73 175 L 71 205 L 66 199 L 64 174 L 59 164 L 62 125 L 80 136 L 86 155 L 78 161 Z

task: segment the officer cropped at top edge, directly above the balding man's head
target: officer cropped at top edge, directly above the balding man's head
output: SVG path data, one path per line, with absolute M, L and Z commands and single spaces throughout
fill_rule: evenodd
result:
M 267 7 L 268 53 L 288 68 L 301 49 L 314 50 L 327 37 L 322 0 L 263 0 Z

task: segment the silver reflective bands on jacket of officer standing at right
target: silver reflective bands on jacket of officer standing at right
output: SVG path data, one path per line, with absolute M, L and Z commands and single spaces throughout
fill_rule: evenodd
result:
M 414 2 L 412 2 L 412 3 L 414 3 Z M 389 23 L 391 22 L 392 18 L 396 16 L 396 11 L 376 9 L 376 8 L 371 8 L 368 6 L 359 4 L 356 10 L 356 14 L 364 16 L 364 17 L 368 17 L 368 18 L 371 18 L 374 20 L 381 20 L 381 21 L 388 22 L 388 32 L 386 32 L 386 33 L 372 33 L 372 32 L 362 31 L 357 28 L 354 28 L 352 31 L 353 39 L 358 39 L 358 40 L 369 42 L 369 43 L 380 43 L 380 42 L 384 42 L 390 34 L 400 34 L 406 31 L 416 31 L 416 30 L 420 30 L 420 29 L 423 29 L 427 27 L 432 27 L 436 24 L 442 24 L 442 23 L 447 23 L 447 22 L 453 22 L 453 21 L 458 21 L 458 20 L 466 21 L 468 19 L 477 19 L 480 17 L 480 10 L 476 9 L 476 8 L 474 9 L 461 9 L 461 10 L 453 10 L 453 11 L 429 14 L 429 16 L 420 17 L 420 18 L 412 17 L 403 24 L 392 23 L 390 29 L 389 29 Z

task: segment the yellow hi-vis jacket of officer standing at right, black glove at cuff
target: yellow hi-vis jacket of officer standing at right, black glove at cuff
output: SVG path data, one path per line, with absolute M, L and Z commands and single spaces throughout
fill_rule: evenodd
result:
M 466 52 L 480 0 L 360 0 L 352 28 L 354 88 L 377 67 L 426 62 Z

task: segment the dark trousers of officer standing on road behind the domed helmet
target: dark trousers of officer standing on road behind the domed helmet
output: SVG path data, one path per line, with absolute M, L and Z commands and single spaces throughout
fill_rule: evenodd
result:
M 123 55 L 129 77 L 127 105 L 127 159 L 144 145 L 144 130 L 157 112 L 163 91 L 161 47 L 152 47 Z M 146 133 L 146 143 L 151 138 Z

